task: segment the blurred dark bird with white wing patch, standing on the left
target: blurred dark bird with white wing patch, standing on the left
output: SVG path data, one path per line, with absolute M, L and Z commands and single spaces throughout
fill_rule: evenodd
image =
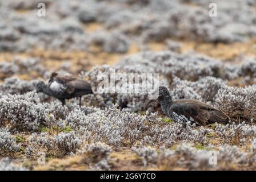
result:
M 37 92 L 43 92 L 57 98 L 62 102 L 62 105 L 65 105 L 66 99 L 79 97 L 80 106 L 82 96 L 93 93 L 89 82 L 76 78 L 69 73 L 59 75 L 57 72 L 51 74 L 48 84 L 43 81 L 38 82 Z

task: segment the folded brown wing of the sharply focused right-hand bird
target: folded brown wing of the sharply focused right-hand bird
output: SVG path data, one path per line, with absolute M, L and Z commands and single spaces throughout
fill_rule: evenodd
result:
M 197 100 L 178 100 L 173 102 L 173 111 L 184 115 L 186 118 L 192 117 L 198 125 L 205 126 L 210 123 L 227 123 L 229 117 L 221 110 L 215 109 Z

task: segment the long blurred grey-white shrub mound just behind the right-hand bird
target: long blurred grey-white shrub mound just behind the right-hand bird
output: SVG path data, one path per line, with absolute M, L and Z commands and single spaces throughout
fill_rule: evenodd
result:
M 212 76 L 223 80 L 238 77 L 255 77 L 255 60 L 242 59 L 239 64 L 223 63 L 210 57 L 194 53 L 179 54 L 175 52 L 142 52 L 125 57 L 117 69 L 135 73 L 159 73 L 161 76 L 182 80 L 197 81 L 202 77 Z M 210 80 L 209 80 L 210 81 Z

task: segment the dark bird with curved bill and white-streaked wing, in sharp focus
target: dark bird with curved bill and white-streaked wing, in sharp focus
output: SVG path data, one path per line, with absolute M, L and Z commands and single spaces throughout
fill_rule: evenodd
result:
M 157 99 L 161 103 L 163 113 L 173 119 L 174 122 L 191 122 L 196 125 L 205 126 L 211 123 L 229 123 L 230 118 L 223 111 L 211 107 L 197 100 L 176 100 L 170 96 L 165 86 L 159 86 L 159 96 Z M 149 100 L 145 107 L 153 100 Z

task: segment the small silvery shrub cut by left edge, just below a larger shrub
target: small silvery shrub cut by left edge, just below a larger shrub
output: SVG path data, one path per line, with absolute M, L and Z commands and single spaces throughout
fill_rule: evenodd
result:
M 15 137 L 13 137 L 9 129 L 0 128 L 0 151 L 2 155 L 5 155 L 4 152 L 15 152 L 19 151 L 20 145 L 16 142 Z

